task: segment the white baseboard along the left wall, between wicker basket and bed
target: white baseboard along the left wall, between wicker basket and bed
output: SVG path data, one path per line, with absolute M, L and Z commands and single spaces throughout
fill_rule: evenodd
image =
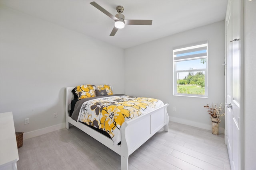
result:
M 66 127 L 66 123 L 60 123 L 58 125 L 53 125 L 53 126 L 45 127 L 45 128 L 38 129 L 35 131 L 26 132 L 23 134 L 23 140 L 26 140 L 26 139 L 29 139 L 32 137 L 36 137 L 36 136 L 40 136 L 40 135 L 44 135 L 46 133 L 50 133 L 53 131 L 57 131 L 57 130 L 63 129 L 65 127 Z

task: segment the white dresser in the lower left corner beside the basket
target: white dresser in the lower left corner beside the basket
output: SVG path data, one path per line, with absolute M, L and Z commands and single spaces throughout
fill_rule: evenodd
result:
M 12 112 L 0 113 L 0 170 L 17 170 L 18 160 Z

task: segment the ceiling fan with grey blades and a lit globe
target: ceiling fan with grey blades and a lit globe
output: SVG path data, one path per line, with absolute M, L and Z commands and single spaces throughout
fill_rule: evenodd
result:
M 124 11 L 123 6 L 117 6 L 116 11 L 118 12 L 118 14 L 116 14 L 116 16 L 113 16 L 96 2 L 90 2 L 90 4 L 115 21 L 115 26 L 109 36 L 114 36 L 118 29 L 124 28 L 124 25 L 152 25 L 152 20 L 125 20 L 124 15 L 122 14 L 122 12 Z

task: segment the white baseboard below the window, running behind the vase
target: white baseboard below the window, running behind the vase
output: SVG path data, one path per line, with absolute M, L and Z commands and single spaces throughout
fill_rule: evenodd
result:
M 180 118 L 172 117 L 172 116 L 169 117 L 169 120 L 174 121 L 176 123 L 181 123 L 181 124 L 190 125 L 190 126 L 198 127 L 198 128 L 201 128 L 201 129 L 206 129 L 206 130 L 212 131 L 212 125 L 207 125 L 207 124 L 204 124 L 204 123 L 198 123 L 198 122 L 190 121 L 190 120 L 186 120 L 186 119 L 180 119 Z M 219 133 L 224 134 L 225 129 L 223 127 L 219 127 Z

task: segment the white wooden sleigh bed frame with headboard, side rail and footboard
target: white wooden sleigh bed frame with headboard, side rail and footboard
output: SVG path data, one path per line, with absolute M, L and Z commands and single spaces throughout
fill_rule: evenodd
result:
M 114 146 L 113 141 L 110 138 L 87 127 L 79 121 L 74 121 L 69 116 L 68 110 L 70 110 L 71 100 L 74 98 L 71 91 L 74 88 L 75 87 L 66 87 L 66 128 L 69 129 L 69 124 L 71 123 L 119 154 L 121 156 L 121 170 L 128 170 L 129 155 L 143 145 L 157 131 L 164 127 L 164 131 L 168 132 L 169 116 L 166 109 L 168 104 L 165 104 L 154 111 L 141 115 L 137 119 L 124 122 L 121 127 L 122 143 L 119 146 Z

